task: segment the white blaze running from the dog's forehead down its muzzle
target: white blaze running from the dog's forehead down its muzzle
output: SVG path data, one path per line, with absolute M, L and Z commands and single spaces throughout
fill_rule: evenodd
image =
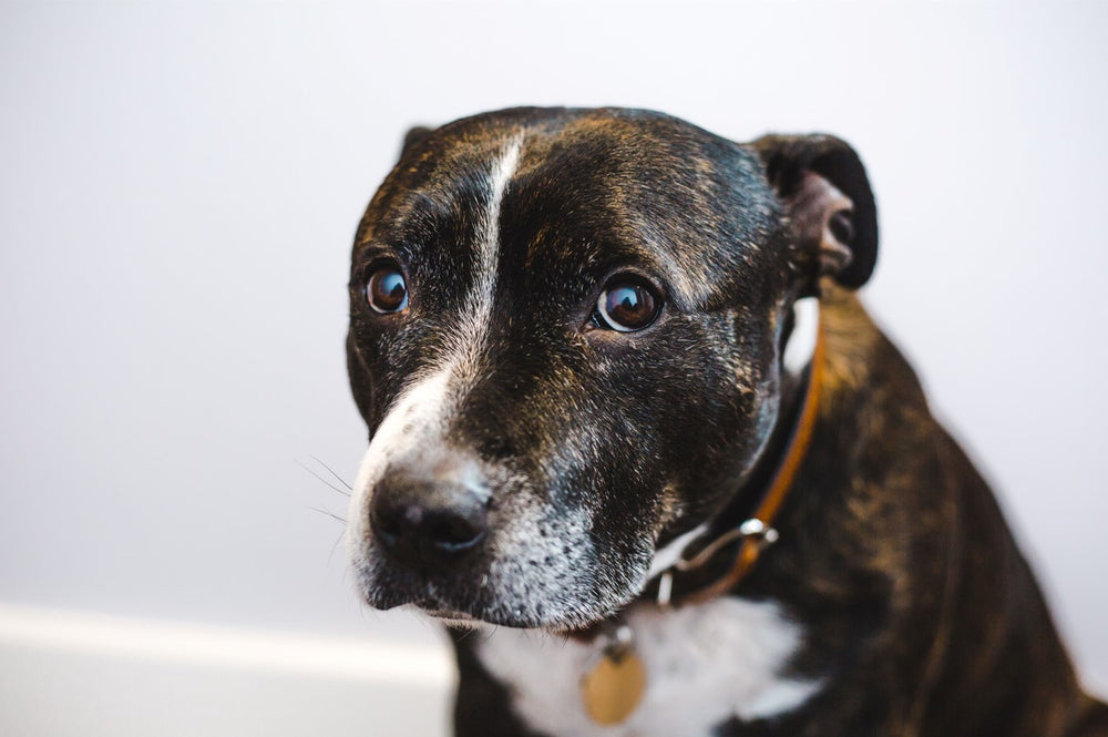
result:
M 366 539 L 369 516 L 366 506 L 389 463 L 429 443 L 441 442 L 476 376 L 496 288 L 501 202 L 515 173 L 522 144 L 522 134 L 512 139 L 489 170 L 489 201 L 474 234 L 474 279 L 462 303 L 460 329 L 447 337 L 450 349 L 437 367 L 430 367 L 422 378 L 401 390 L 362 457 L 350 494 L 352 551 Z

